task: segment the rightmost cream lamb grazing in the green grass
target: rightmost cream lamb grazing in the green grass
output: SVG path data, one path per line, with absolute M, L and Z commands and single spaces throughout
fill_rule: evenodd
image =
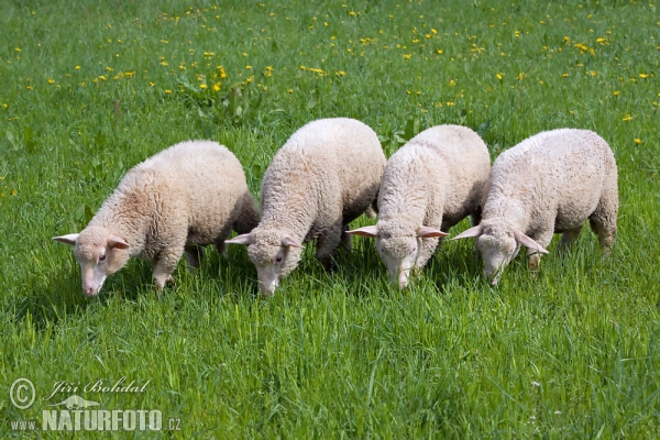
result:
M 534 272 L 553 233 L 564 253 L 588 219 L 609 254 L 616 238 L 617 168 L 607 143 L 587 130 L 536 134 L 502 153 L 486 184 L 481 224 L 452 240 L 479 238 L 486 277 L 497 284 L 520 245 Z

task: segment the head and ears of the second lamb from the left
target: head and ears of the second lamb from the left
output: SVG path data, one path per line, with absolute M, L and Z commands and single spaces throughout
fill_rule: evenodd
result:
M 248 256 L 256 267 L 258 289 L 264 296 L 275 293 L 279 282 L 298 266 L 302 245 L 292 235 L 279 231 L 261 231 L 227 240 L 230 244 L 248 244 Z

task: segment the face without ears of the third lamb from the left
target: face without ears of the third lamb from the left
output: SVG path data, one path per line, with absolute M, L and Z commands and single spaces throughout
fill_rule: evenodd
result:
M 389 272 L 389 278 L 402 289 L 408 285 L 420 245 L 421 239 L 417 235 L 376 238 L 376 250 Z

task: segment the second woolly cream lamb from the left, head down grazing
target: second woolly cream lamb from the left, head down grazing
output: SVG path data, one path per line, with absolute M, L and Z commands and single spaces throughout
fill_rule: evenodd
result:
M 375 204 L 385 168 L 376 133 L 346 118 L 320 119 L 296 131 L 277 152 L 262 183 L 262 221 L 227 243 L 248 244 L 263 295 L 296 268 L 304 241 L 329 267 L 346 224 Z

